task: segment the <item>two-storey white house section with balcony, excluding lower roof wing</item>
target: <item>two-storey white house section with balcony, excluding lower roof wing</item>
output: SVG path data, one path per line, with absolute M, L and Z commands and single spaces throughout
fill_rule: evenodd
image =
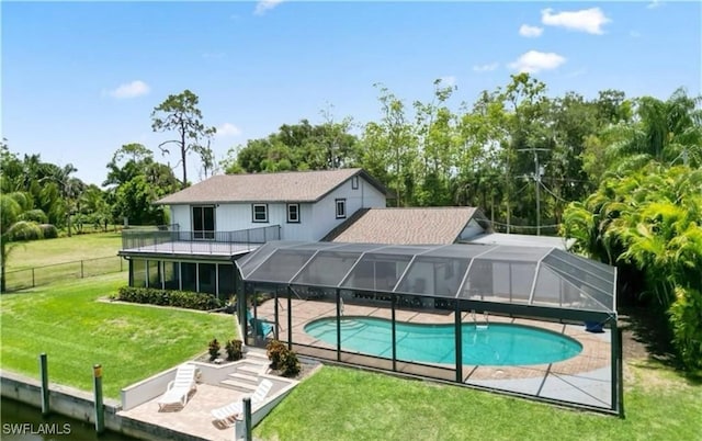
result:
M 206 292 L 228 298 L 234 260 L 269 240 L 316 241 L 387 191 L 362 169 L 215 176 L 157 201 L 172 227 L 125 230 L 120 256 L 129 285 Z

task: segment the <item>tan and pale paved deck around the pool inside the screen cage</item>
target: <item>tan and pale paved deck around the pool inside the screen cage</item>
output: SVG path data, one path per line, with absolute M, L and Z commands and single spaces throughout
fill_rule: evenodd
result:
M 286 301 L 279 302 L 279 336 L 286 340 L 287 314 Z M 258 307 L 258 315 L 272 319 L 274 302 L 264 302 Z M 304 331 L 305 325 L 322 317 L 336 317 L 336 303 L 329 301 L 292 299 L 292 341 L 294 349 L 301 354 L 341 361 L 343 363 L 364 365 L 373 369 L 393 370 L 390 360 L 363 355 L 359 352 L 344 351 L 337 359 L 336 347 L 316 339 Z M 343 306 L 344 317 L 361 316 L 392 318 L 392 312 L 384 305 Z M 414 324 L 453 324 L 452 312 L 440 309 L 396 309 L 398 321 Z M 484 316 L 475 317 L 478 324 Z M 471 313 L 463 313 L 462 321 L 473 324 Z M 526 366 L 476 366 L 463 365 L 463 383 L 479 387 L 496 388 L 509 393 L 533 395 L 542 398 L 575 403 L 585 406 L 610 409 L 611 403 L 611 333 L 604 329 L 601 333 L 591 333 L 582 325 L 540 321 L 524 318 L 488 316 L 490 324 L 516 324 L 547 329 L 577 340 L 582 351 L 568 360 L 547 364 Z M 489 325 L 488 325 L 489 326 Z M 455 382 L 455 365 L 416 364 L 398 361 L 394 369 L 397 372 L 417 376 L 429 376 L 438 380 Z

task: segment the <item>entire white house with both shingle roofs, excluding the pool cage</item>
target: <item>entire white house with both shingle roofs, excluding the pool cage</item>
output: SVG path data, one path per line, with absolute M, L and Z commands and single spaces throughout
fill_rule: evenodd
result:
M 475 207 L 387 208 L 387 191 L 362 169 L 216 176 L 166 196 L 172 226 L 125 230 L 118 252 L 129 285 L 235 294 L 234 261 L 271 240 L 378 245 L 521 245 L 563 239 L 492 233 Z

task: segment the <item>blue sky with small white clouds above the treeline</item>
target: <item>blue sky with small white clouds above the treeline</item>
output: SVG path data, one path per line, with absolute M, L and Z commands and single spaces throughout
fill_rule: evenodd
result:
M 374 83 L 410 104 L 437 78 L 453 102 L 530 71 L 550 95 L 700 94 L 700 2 L 7 2 L 2 137 L 100 184 L 123 144 L 157 150 L 150 113 L 200 97 L 230 147 L 302 118 L 380 114 Z M 158 160 L 176 165 L 176 157 Z M 197 181 L 191 157 L 189 179 Z M 177 169 L 176 174 L 180 176 Z

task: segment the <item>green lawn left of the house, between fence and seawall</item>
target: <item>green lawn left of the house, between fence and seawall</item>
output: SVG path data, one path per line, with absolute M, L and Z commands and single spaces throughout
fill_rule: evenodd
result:
M 105 396 L 236 337 L 234 316 L 99 302 L 125 284 L 122 273 L 54 283 L 0 297 L 0 366 L 38 378 L 48 355 L 49 381 L 92 389 L 103 366 Z

